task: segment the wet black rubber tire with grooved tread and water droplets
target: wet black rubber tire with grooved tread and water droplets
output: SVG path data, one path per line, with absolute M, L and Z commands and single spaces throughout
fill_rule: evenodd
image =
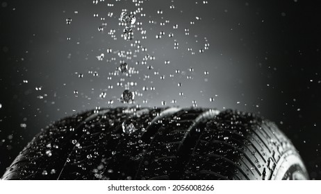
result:
M 124 128 L 124 129 L 123 129 Z M 2 179 L 308 179 L 263 118 L 195 108 L 101 109 L 49 125 Z

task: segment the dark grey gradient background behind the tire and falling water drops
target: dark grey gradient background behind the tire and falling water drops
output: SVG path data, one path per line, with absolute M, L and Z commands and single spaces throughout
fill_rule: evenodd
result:
M 136 26 L 134 39 L 126 42 L 120 37 L 123 27 L 118 17 L 124 8 L 135 10 L 132 1 L 106 0 L 97 5 L 91 0 L 0 1 L 0 174 L 50 121 L 108 107 L 108 100 L 114 101 L 111 106 L 120 106 L 117 98 L 126 83 L 136 82 L 129 87 L 141 94 L 136 95 L 136 105 L 162 106 L 165 100 L 172 106 L 175 99 L 175 105 L 190 107 L 196 100 L 198 107 L 240 109 L 275 121 L 299 150 L 311 178 L 321 179 L 321 12 L 318 1 L 308 2 L 144 1 L 146 17 L 137 15 L 136 24 L 142 22 L 147 39 L 142 39 Z M 157 14 L 160 9 L 163 15 Z M 66 18 L 72 18 L 70 25 Z M 161 26 L 165 20 L 170 22 Z M 102 22 L 107 27 L 99 32 Z M 173 29 L 174 24 L 179 28 Z M 185 28 L 190 35 L 185 35 Z M 117 40 L 108 35 L 110 29 Z M 165 35 L 156 39 L 161 31 Z M 209 49 L 199 53 L 205 37 Z M 131 44 L 136 39 L 147 52 L 135 53 L 137 48 Z M 179 49 L 174 49 L 174 39 Z M 108 54 L 107 48 L 135 53 L 126 62 L 140 73 L 110 76 L 122 59 L 117 53 Z M 96 56 L 101 53 L 105 58 L 99 61 Z M 156 60 L 142 64 L 147 54 Z M 147 69 L 149 65 L 154 69 Z M 191 67 L 193 72 L 188 70 Z M 176 69 L 181 73 L 176 74 Z M 83 78 L 77 73 L 83 73 Z M 123 82 L 123 87 L 117 82 Z M 179 82 L 182 87 L 177 86 Z M 142 91 L 145 86 L 155 90 Z M 74 90 L 79 91 L 78 97 Z M 102 91 L 104 99 L 99 98 Z M 215 101 L 210 102 L 212 97 Z

